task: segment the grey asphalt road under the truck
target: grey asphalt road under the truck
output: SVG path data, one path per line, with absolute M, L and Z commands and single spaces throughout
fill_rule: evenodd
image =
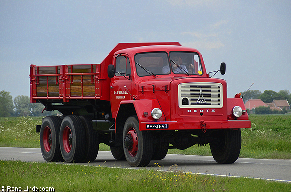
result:
M 0 159 L 46 162 L 42 158 L 39 148 L 0 147 Z M 87 165 L 88 163 L 83 164 Z M 109 151 L 99 151 L 96 160 L 90 165 L 133 168 L 128 165 L 126 160 L 114 159 Z M 152 160 L 146 168 L 166 171 L 171 167 L 173 167 L 172 170 L 176 169 L 199 174 L 243 176 L 291 183 L 291 160 L 239 158 L 233 164 L 218 164 L 212 156 L 167 154 L 163 160 Z

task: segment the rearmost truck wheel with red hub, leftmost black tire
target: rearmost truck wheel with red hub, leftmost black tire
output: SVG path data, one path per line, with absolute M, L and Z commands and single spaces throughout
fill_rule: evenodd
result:
M 64 161 L 60 151 L 59 134 L 61 119 L 57 116 L 46 116 L 40 128 L 40 149 L 47 162 Z

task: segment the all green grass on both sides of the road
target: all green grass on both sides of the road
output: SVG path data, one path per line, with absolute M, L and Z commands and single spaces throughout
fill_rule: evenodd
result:
M 251 129 L 242 130 L 240 157 L 291 159 L 291 115 L 251 115 Z M 0 146 L 39 148 L 35 125 L 40 117 L 0 118 Z M 101 144 L 100 150 L 109 150 Z M 211 155 L 209 145 L 169 153 Z M 156 165 L 159 166 L 159 165 Z M 56 163 L 25 163 L 0 160 L 0 186 L 18 191 L 41 187 L 55 192 L 197 191 L 197 192 L 290 192 L 290 183 L 252 178 L 215 177 L 157 170 L 112 169 Z M 21 190 L 19 190 L 21 188 Z M 14 189 L 15 190 L 15 189 Z M 17 190 L 15 190 L 17 191 Z

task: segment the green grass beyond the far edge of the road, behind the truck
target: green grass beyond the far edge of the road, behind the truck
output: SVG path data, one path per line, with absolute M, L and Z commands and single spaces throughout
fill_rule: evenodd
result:
M 291 159 L 291 115 L 250 115 L 251 128 L 241 129 L 242 148 L 240 157 Z M 35 125 L 42 117 L 0 117 L 1 147 L 39 148 L 39 133 Z M 109 146 L 100 144 L 99 150 L 109 151 Z M 169 149 L 168 153 L 209 155 L 209 145 L 194 145 L 186 150 Z

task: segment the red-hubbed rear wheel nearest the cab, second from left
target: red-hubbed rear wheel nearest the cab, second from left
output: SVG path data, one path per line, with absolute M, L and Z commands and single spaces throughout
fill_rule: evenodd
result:
M 86 134 L 78 116 L 64 117 L 60 128 L 60 149 L 63 159 L 68 162 L 80 162 L 86 151 Z

